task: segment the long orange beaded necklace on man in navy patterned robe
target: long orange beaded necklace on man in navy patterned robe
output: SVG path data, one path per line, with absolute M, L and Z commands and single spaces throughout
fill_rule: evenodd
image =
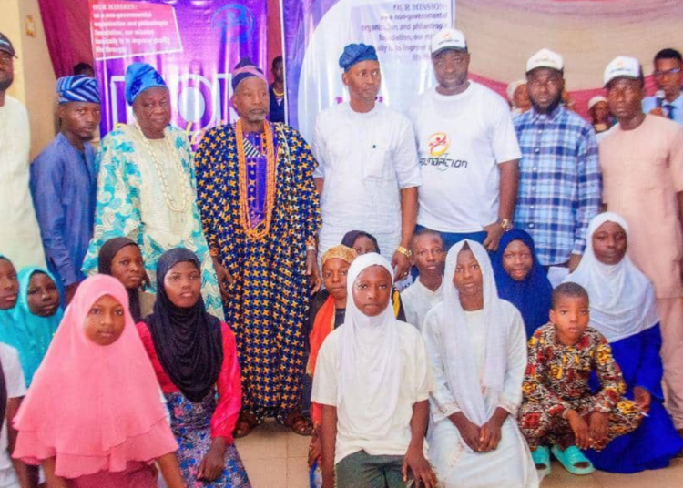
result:
M 240 225 L 244 232 L 252 240 L 263 239 L 270 232 L 272 209 L 275 204 L 275 141 L 272 129 L 267 121 L 263 121 L 263 146 L 266 149 L 266 202 L 263 208 L 266 214 L 258 226 L 254 229 L 251 225 L 249 212 L 249 195 L 247 192 L 247 157 L 244 154 L 244 131 L 242 121 L 239 119 L 235 124 L 235 138 L 237 139 L 238 178 L 240 181 Z

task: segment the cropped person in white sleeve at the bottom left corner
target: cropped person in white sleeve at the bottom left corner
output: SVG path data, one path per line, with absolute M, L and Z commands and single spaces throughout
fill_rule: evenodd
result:
M 15 348 L 4 343 L 0 343 L 0 363 L 2 363 L 5 373 L 7 417 L 13 418 L 19 409 L 21 399 L 26 394 L 24 371 L 21 369 L 19 353 Z M 25 466 L 23 467 L 25 468 Z M 0 431 L 0 488 L 19 488 L 19 486 L 8 448 L 7 421 L 3 419 L 2 431 Z

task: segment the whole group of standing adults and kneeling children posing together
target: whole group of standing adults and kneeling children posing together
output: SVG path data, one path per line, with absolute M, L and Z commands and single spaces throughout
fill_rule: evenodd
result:
M 346 46 L 350 101 L 311 146 L 268 120 L 281 59 L 270 87 L 235 66 L 239 118 L 196 152 L 154 66 L 127 67 L 135 120 L 97 150 L 97 81 L 67 76 L 29 166 L 0 35 L 0 485 L 155 486 L 156 465 L 171 488 L 250 486 L 233 441 L 267 417 L 312 436 L 326 488 L 533 487 L 551 453 L 576 474 L 668 465 L 680 54 L 656 56 L 649 108 L 637 60 L 608 64 L 598 147 L 559 54 L 529 58 L 511 112 L 468 79 L 461 31 L 431 52 L 437 86 L 403 115 L 376 101 L 374 47 Z

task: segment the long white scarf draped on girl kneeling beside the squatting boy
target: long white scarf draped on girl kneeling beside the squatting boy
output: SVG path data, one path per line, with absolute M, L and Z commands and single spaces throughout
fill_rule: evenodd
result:
M 460 293 L 453 284 L 458 253 L 467 243 L 479 263 L 484 280 L 484 324 L 485 348 L 484 373 L 480 377 L 474 361 L 474 351 L 467 332 L 463 305 L 460 303 Z M 495 287 L 494 269 L 486 249 L 474 240 L 465 239 L 458 242 L 448 251 L 446 257 L 443 290 L 444 307 L 439 310 L 439 322 L 444 324 L 443 350 L 445 351 L 445 372 L 448 385 L 454 394 L 455 401 L 463 411 L 465 417 L 477 425 L 484 425 L 497 406 L 490 402 L 488 408 L 484 396 L 493 394 L 500 396 L 507 370 L 507 333 L 514 318 L 505 315 L 502 302 L 498 298 Z

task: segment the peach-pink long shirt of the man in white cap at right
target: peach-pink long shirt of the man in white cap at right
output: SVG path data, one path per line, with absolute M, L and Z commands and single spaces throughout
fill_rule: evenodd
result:
M 599 146 L 603 200 L 628 222 L 628 255 L 655 285 L 658 298 L 683 293 L 683 127 L 646 116 L 634 130 L 614 127 Z

